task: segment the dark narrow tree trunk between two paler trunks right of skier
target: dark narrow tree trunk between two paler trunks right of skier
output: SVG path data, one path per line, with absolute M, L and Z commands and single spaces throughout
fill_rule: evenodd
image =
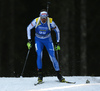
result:
M 75 1 L 71 1 L 69 22 L 69 69 L 70 75 L 75 75 Z

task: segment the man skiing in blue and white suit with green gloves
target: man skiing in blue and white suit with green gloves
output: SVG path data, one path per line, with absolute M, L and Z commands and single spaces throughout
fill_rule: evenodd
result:
M 48 17 L 46 10 L 40 11 L 38 18 L 35 18 L 27 27 L 27 37 L 28 37 L 28 49 L 32 47 L 31 40 L 31 29 L 35 28 L 35 49 L 37 52 L 37 68 L 38 68 L 38 82 L 42 82 L 42 51 L 44 46 L 49 53 L 50 59 L 52 61 L 53 67 L 57 73 L 57 78 L 60 82 L 64 82 L 65 78 L 62 77 L 60 73 L 60 68 L 58 61 L 55 57 L 54 45 L 51 38 L 51 31 L 54 30 L 56 33 L 56 50 L 60 50 L 60 31 L 52 18 Z

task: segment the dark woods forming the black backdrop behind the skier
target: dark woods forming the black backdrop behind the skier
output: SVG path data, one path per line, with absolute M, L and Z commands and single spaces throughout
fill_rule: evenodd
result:
M 20 76 L 28 51 L 26 28 L 46 7 L 47 0 L 0 0 L 0 76 Z M 61 31 L 62 74 L 100 75 L 99 0 L 51 0 L 49 16 Z M 55 43 L 54 32 L 52 38 Z M 32 40 L 24 76 L 37 75 L 34 29 Z M 45 48 L 43 54 L 44 75 L 55 75 Z

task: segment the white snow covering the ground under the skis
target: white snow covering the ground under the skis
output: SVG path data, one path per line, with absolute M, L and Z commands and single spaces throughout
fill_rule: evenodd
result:
M 100 91 L 100 77 L 64 76 L 76 84 L 60 83 L 57 77 L 44 77 L 43 84 L 34 86 L 37 77 L 0 78 L 0 91 Z M 86 80 L 90 83 L 86 84 Z

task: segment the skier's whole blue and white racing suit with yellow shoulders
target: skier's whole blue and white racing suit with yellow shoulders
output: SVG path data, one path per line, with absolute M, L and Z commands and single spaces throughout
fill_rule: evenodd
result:
M 50 21 L 49 22 L 46 21 L 46 23 L 42 23 L 40 17 L 35 18 L 27 27 L 27 37 L 28 39 L 31 39 L 31 29 L 35 28 L 35 48 L 37 52 L 37 68 L 42 69 L 42 51 L 45 46 L 49 53 L 55 71 L 59 71 L 60 70 L 59 64 L 55 57 L 54 45 L 51 38 L 51 29 L 53 29 L 56 33 L 57 42 L 59 42 L 60 40 L 60 31 L 55 22 L 52 21 L 51 18 L 49 17 L 47 18 Z

